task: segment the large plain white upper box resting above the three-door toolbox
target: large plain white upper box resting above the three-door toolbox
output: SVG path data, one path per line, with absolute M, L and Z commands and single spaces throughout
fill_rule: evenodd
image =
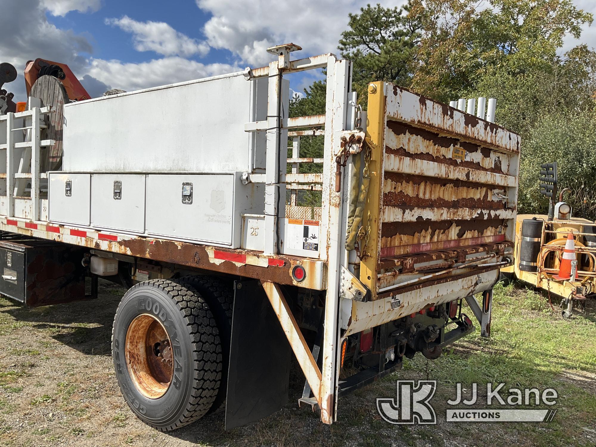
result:
M 266 116 L 267 79 L 243 73 L 66 104 L 63 170 L 250 171 L 266 136 L 244 124 Z

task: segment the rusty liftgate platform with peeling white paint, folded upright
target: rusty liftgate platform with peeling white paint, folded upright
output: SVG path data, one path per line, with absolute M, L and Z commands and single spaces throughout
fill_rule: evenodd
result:
M 498 269 L 513 243 L 519 136 L 390 84 L 384 94 L 374 298 Z

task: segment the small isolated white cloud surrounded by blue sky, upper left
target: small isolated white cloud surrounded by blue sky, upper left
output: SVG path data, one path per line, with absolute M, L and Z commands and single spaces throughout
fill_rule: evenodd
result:
M 206 42 L 191 39 L 179 33 L 162 21 L 136 21 L 128 17 L 106 18 L 105 24 L 117 26 L 132 33 L 132 42 L 136 51 L 154 51 L 164 56 L 190 57 L 195 54 L 204 56 L 209 52 Z

